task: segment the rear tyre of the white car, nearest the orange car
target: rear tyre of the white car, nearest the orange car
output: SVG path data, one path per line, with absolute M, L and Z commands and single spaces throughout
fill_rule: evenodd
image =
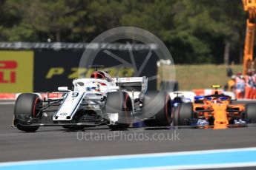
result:
M 143 115 L 146 126 L 171 125 L 171 98 L 168 92 L 146 92 L 143 98 Z

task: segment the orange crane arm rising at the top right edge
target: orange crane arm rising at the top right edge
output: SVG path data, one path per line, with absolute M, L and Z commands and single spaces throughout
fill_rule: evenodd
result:
M 253 69 L 253 48 L 255 45 L 255 18 L 256 18 L 256 0 L 243 0 L 243 10 L 249 13 L 246 21 L 246 40 L 243 52 L 243 75 L 246 75 L 248 69 Z

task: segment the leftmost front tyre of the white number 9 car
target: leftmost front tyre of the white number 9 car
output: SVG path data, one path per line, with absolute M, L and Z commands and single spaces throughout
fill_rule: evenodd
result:
M 42 117 L 42 113 L 36 105 L 42 103 L 39 95 L 33 93 L 23 93 L 19 95 L 14 107 L 13 124 L 17 129 L 24 132 L 35 132 L 39 126 L 27 126 L 27 121 L 31 118 Z

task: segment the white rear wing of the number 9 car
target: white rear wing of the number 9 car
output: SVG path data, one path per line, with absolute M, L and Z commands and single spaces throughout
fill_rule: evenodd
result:
M 114 78 L 114 84 L 130 91 L 145 92 L 148 89 L 148 78 L 146 78 L 145 76 Z

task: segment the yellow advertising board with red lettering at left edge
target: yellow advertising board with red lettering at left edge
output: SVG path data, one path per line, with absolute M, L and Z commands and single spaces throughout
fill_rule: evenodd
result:
M 33 52 L 0 51 L 0 92 L 33 92 Z

